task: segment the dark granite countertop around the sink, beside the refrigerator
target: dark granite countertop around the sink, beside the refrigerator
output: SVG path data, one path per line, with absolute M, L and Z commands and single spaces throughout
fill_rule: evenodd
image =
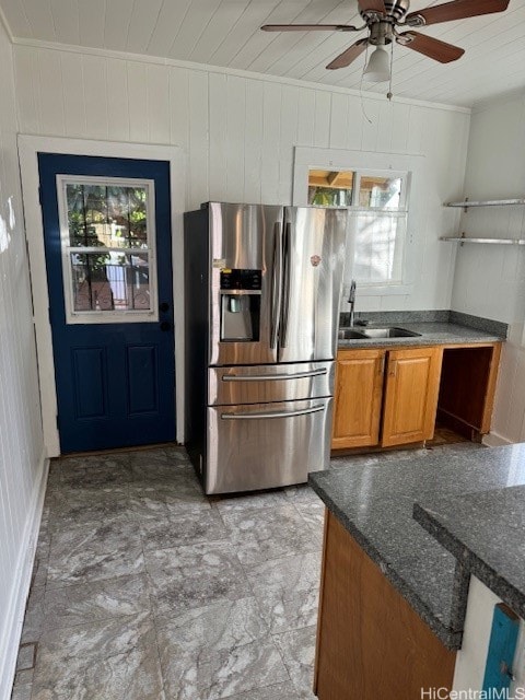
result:
M 359 323 L 366 319 L 366 326 Z M 345 323 L 347 320 L 347 323 Z M 400 326 L 420 334 L 405 338 L 369 338 L 338 340 L 339 348 L 389 348 L 395 346 L 463 345 L 495 342 L 506 338 L 506 324 L 457 312 L 386 312 L 357 314 L 355 330 L 385 326 Z M 345 317 L 340 327 L 349 322 Z

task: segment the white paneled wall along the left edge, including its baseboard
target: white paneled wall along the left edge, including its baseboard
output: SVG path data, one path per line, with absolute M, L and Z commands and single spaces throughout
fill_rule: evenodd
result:
M 0 22 L 0 698 L 10 697 L 45 462 L 16 155 L 12 47 Z

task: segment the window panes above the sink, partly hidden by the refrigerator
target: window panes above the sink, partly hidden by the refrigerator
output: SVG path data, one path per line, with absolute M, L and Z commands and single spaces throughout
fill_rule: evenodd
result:
M 350 212 L 352 276 L 361 285 L 402 283 L 407 186 L 408 173 L 308 171 L 308 203 Z

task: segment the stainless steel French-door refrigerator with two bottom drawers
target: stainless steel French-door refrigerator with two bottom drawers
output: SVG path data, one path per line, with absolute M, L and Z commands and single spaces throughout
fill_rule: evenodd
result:
M 317 207 L 185 214 L 185 433 L 206 493 L 328 465 L 346 228 Z

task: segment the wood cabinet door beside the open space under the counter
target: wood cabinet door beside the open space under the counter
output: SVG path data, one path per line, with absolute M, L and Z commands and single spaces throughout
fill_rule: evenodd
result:
M 442 348 L 388 352 L 382 446 L 433 438 L 442 357 Z

